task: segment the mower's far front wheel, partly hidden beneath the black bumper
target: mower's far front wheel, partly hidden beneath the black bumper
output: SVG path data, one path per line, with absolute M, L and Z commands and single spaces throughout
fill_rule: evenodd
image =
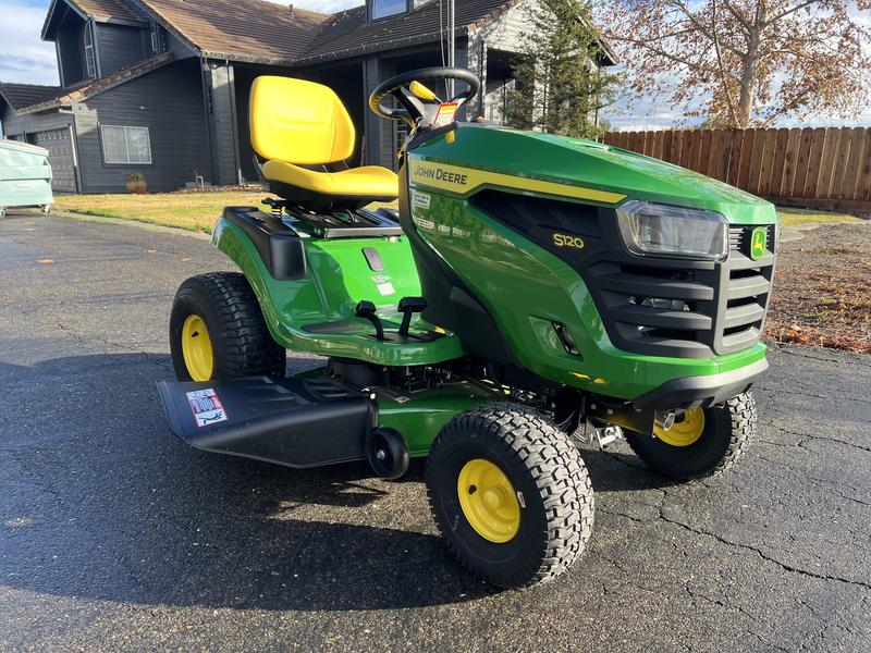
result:
M 671 429 L 627 432 L 633 451 L 653 470 L 678 480 L 721 473 L 747 449 L 756 433 L 757 410 L 746 392 L 720 406 L 690 408 Z

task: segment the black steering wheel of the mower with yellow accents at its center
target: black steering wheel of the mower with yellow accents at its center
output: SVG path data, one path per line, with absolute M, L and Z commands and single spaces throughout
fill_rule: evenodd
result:
M 466 90 L 456 94 L 453 98 L 442 101 L 427 86 L 426 82 L 443 82 L 454 79 L 464 82 Z M 439 115 L 442 104 L 455 104 L 454 111 L 459 106 L 474 97 L 481 88 L 478 75 L 466 69 L 433 66 L 402 73 L 379 84 L 369 96 L 369 109 L 380 118 L 401 120 L 412 128 L 426 128 L 431 126 Z M 392 95 L 402 104 L 401 109 L 388 107 L 384 100 Z

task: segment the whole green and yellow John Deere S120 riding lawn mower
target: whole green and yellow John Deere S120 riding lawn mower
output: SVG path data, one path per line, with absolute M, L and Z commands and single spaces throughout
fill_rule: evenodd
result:
M 200 449 L 368 460 L 384 479 L 426 457 L 449 550 L 523 587 L 590 538 L 578 440 L 625 438 L 680 481 L 740 456 L 768 367 L 776 214 L 655 159 L 459 120 L 479 89 L 453 67 L 376 88 L 370 109 L 408 126 L 397 175 L 347 167 L 355 131 L 330 88 L 257 78 L 252 144 L 279 199 L 224 210 L 213 244 L 241 273 L 181 285 L 177 381 L 158 386 Z M 287 352 L 323 365 L 289 375 Z

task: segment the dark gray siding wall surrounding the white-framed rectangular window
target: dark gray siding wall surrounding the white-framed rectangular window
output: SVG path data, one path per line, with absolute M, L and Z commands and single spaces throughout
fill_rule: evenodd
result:
M 75 107 L 85 193 L 119 193 L 131 172 L 142 172 L 151 190 L 173 190 L 193 181 L 196 169 L 211 181 L 197 60 L 165 65 L 106 90 Z M 150 165 L 107 165 L 100 125 L 148 127 Z

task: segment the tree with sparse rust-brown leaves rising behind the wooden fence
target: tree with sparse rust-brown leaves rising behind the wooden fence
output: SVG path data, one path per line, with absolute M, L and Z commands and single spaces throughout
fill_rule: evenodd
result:
M 600 0 L 639 97 L 729 127 L 868 107 L 871 0 Z M 864 14 L 868 15 L 868 14 Z M 871 16 L 869 16 L 871 17 Z

